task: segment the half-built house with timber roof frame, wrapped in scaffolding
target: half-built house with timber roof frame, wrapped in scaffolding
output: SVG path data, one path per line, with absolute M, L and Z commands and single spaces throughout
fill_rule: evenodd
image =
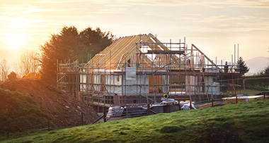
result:
M 235 61 L 235 60 L 234 60 Z M 121 37 L 87 63 L 57 62 L 57 87 L 93 106 L 195 102 L 236 94 L 236 63 L 216 65 L 197 46 L 154 35 Z

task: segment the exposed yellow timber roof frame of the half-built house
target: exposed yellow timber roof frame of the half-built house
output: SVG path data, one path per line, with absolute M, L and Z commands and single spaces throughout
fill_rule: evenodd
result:
M 162 43 L 151 34 L 121 37 L 96 54 L 86 66 L 107 70 L 119 70 L 126 66 L 164 70 L 212 68 L 223 72 L 194 44 L 188 49 L 185 39 L 184 42 Z

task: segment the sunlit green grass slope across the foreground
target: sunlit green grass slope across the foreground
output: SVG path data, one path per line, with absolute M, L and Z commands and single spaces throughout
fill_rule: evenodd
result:
M 2 142 L 268 142 L 269 100 L 160 113 Z

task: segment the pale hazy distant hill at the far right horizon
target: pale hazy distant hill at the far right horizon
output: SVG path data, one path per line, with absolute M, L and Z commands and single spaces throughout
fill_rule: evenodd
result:
M 268 66 L 269 58 L 265 56 L 259 56 L 256 58 L 251 58 L 246 61 L 246 66 L 250 68 L 246 75 L 253 75 L 261 70 L 264 70 L 266 66 Z

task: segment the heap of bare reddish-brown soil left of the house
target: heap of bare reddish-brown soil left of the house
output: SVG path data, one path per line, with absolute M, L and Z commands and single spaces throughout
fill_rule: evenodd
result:
M 40 109 L 61 128 L 81 125 L 81 112 L 84 114 L 84 123 L 91 123 L 98 118 L 91 106 L 86 106 L 56 87 L 46 85 L 42 80 L 11 80 L 4 82 L 0 88 L 30 94 Z

